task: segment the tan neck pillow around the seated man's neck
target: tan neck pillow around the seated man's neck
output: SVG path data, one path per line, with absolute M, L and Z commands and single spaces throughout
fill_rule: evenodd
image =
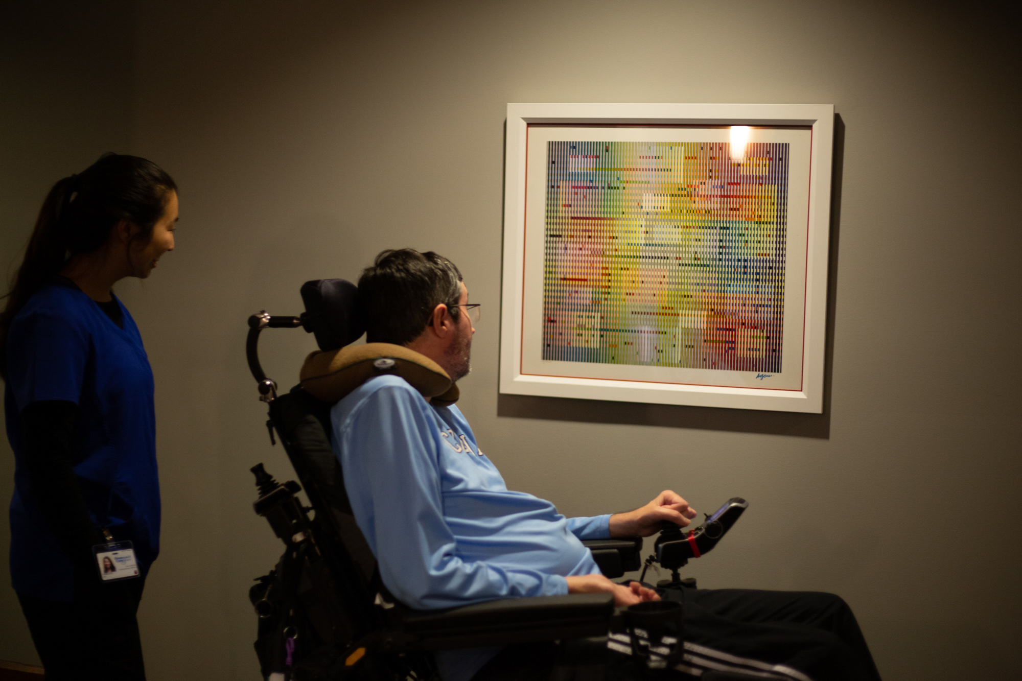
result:
M 440 365 L 425 355 L 389 343 L 367 343 L 339 350 L 316 351 L 298 374 L 301 388 L 318 400 L 339 402 L 373 376 L 401 376 L 422 397 L 446 407 L 458 401 L 458 387 Z

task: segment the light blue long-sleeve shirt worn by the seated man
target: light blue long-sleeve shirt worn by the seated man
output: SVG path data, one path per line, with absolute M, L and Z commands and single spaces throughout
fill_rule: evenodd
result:
M 331 422 L 355 519 L 406 605 L 561 595 L 565 577 L 600 572 L 580 540 L 609 537 L 610 515 L 565 518 L 508 490 L 456 406 L 385 375 L 334 405 Z M 437 653 L 440 675 L 468 681 L 499 650 Z

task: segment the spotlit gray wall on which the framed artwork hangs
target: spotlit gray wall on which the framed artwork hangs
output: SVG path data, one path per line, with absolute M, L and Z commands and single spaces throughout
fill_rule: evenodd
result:
M 298 312 L 303 281 L 355 277 L 405 245 L 454 259 L 484 306 L 462 409 L 510 487 L 567 514 L 664 487 L 706 511 L 745 496 L 741 524 L 688 570 L 702 586 L 840 593 L 888 679 L 1013 676 L 1011 21 L 932 3 L 142 3 L 131 149 L 182 187 L 177 251 L 118 289 L 157 381 L 150 678 L 258 674 L 245 593 L 280 545 L 251 512 L 246 469 L 288 472 L 246 372 L 244 318 Z M 120 83 L 124 65 L 95 60 Z M 835 103 L 827 413 L 499 398 L 508 101 Z M 25 233 L 65 166 L 41 171 L 5 232 Z M 290 384 L 312 338 L 264 336 L 269 373 Z M 2 620 L 19 631 L 16 610 Z M 29 661 L 24 641 L 5 637 L 0 659 Z

